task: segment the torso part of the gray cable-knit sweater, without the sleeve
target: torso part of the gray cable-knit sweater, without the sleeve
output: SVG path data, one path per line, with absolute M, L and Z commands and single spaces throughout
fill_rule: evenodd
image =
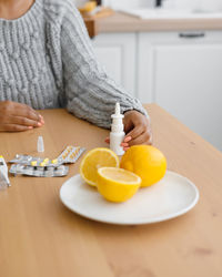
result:
M 21 18 L 0 19 L 0 101 L 64 106 L 58 12 L 37 0 Z

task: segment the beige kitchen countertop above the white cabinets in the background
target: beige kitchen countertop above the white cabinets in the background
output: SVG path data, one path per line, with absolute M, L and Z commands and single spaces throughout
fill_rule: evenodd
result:
M 122 12 L 95 20 L 97 34 L 109 32 L 147 32 L 182 30 L 222 30 L 222 18 L 147 19 Z

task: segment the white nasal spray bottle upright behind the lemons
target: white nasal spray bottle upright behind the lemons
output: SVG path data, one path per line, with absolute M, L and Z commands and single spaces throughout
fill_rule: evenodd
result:
M 124 140 L 124 126 L 122 123 L 123 114 L 120 113 L 120 103 L 115 104 L 115 113 L 111 115 L 112 125 L 110 133 L 110 148 L 118 155 L 124 154 L 122 146 L 120 145 Z

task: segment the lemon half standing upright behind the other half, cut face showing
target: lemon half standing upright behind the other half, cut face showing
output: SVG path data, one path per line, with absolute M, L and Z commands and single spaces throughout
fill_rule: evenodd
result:
M 80 164 L 80 174 L 87 184 L 95 186 L 98 168 L 119 167 L 119 157 L 109 148 L 93 148 L 87 153 Z

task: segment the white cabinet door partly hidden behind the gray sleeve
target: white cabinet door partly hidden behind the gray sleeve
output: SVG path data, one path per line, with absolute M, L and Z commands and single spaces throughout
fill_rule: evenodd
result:
M 108 74 L 128 93 L 135 91 L 135 34 L 105 33 L 93 40 L 95 54 Z

